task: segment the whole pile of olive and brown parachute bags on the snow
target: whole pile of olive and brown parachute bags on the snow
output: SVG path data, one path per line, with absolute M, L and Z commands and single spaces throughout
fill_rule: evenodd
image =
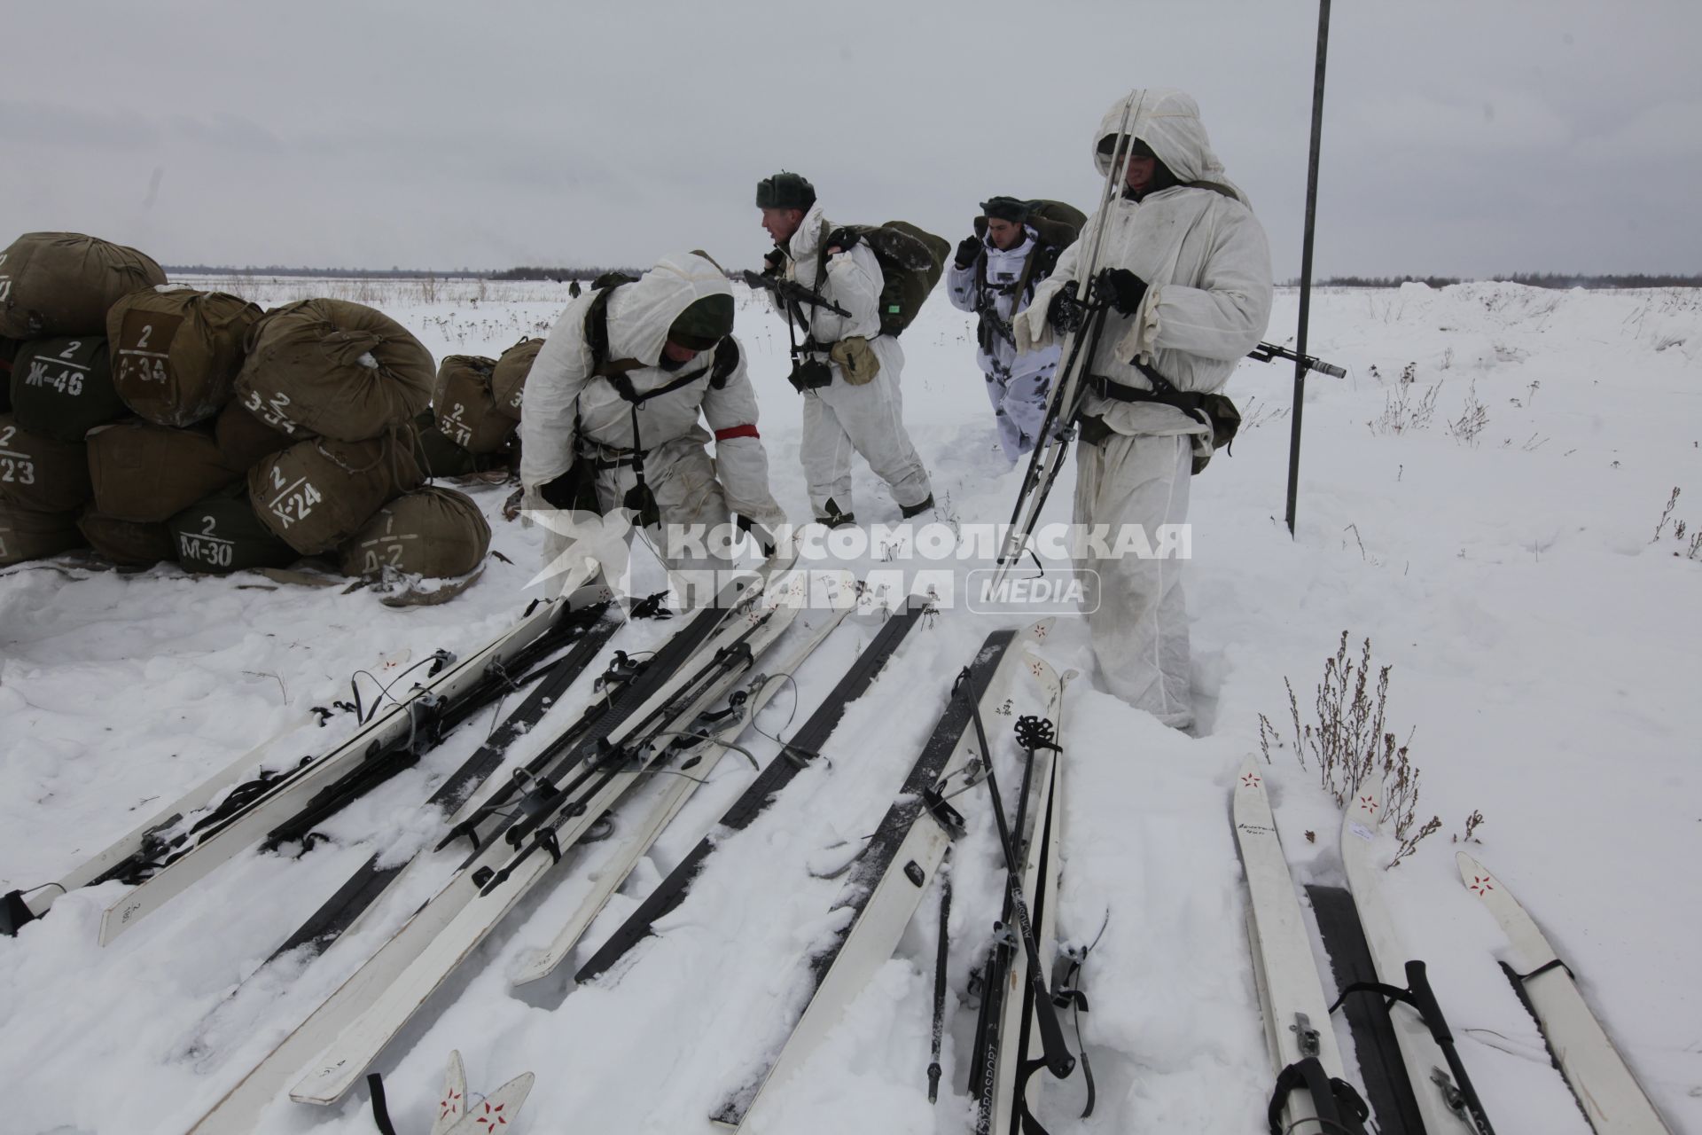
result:
M 168 286 L 134 248 L 27 233 L 0 254 L 0 567 L 92 546 L 121 567 L 318 556 L 346 575 L 466 577 L 490 526 L 427 480 L 504 461 L 519 417 L 505 390 L 514 422 L 490 439 L 487 419 L 507 419 L 488 374 L 473 396 L 470 366 L 436 376 L 419 339 L 357 303 L 262 313 Z M 434 379 L 460 395 L 439 415 L 465 437 L 432 422 Z

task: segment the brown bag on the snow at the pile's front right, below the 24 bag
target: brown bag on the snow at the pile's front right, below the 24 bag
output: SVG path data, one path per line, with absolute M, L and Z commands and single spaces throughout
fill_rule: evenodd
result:
M 456 579 L 478 568 L 490 551 L 490 524 L 471 497 L 427 487 L 380 509 L 342 546 L 344 575 L 393 570 L 426 579 Z

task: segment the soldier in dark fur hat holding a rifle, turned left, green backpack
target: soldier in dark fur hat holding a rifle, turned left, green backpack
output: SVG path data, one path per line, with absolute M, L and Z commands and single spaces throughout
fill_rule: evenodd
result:
M 904 429 L 900 328 L 883 318 L 888 281 L 871 247 L 873 240 L 885 242 L 892 226 L 870 231 L 829 223 L 815 187 L 798 174 L 764 177 L 756 204 L 762 228 L 774 238 L 764 274 L 800 286 L 790 298 L 774 294 L 774 306 L 788 328 L 803 335 L 793 354 L 791 385 L 803 395 L 803 475 L 815 519 L 834 528 L 856 522 L 853 451 L 887 482 L 905 517 L 933 509 L 928 470 Z M 921 257 L 926 260 L 926 248 Z M 802 296 L 805 289 L 808 296 Z M 926 296 L 926 288 L 921 291 Z

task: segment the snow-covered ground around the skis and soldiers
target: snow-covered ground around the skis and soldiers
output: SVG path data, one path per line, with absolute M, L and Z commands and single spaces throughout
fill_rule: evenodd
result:
M 305 294 L 373 303 L 439 357 L 494 356 L 546 330 L 565 303 L 565 288 L 551 284 L 238 288 L 264 305 Z M 1270 339 L 1283 339 L 1295 305 L 1295 293 L 1278 296 Z M 785 328 L 751 301 L 739 322 L 776 493 L 805 519 Z M 1484 824 L 1471 851 L 1549 931 L 1675 1130 L 1702 1130 L 1702 551 L 1693 531 L 1675 534 L 1676 521 L 1702 531 L 1702 294 L 1326 291 L 1314 296 L 1312 328 L 1312 351 L 1350 378 L 1307 383 L 1297 534 L 1283 526 L 1287 366 L 1241 368 L 1231 393 L 1248 417 L 1242 436 L 1193 483 L 1200 737 L 1101 693 L 1079 619 L 1060 619 L 1045 650 L 1060 670 L 1088 676 L 1067 699 L 1059 938 L 1084 941 L 1106 924 L 1082 1018 L 1098 1109 L 1074 1120 L 1079 1074 L 1048 1082 L 1048 1126 L 1263 1130 L 1271 1074 L 1242 933 L 1231 783 L 1259 749 L 1259 715 L 1290 737 L 1283 679 L 1311 716 L 1322 660 L 1348 631 L 1351 655 L 1370 638 L 1374 665 L 1394 667 L 1389 728 L 1402 740 L 1411 732 L 1419 818 L 1442 818 L 1385 875 L 1387 893 L 1411 953 L 1430 961 L 1498 1128 L 1588 1130 L 1494 965 L 1499 929 L 1455 873 L 1448 841 L 1474 810 Z M 972 342 L 967 318 L 936 296 L 904 337 L 905 419 L 941 512 L 1002 521 L 1018 476 L 996 451 Z M 1409 366 L 1408 412 L 1397 414 Z M 1431 390 L 1430 420 L 1414 420 Z M 1675 487 L 1692 495 L 1658 529 Z M 519 613 L 538 533 L 495 516 L 504 488 L 473 492 L 512 563 L 492 560 L 475 587 L 437 607 L 398 611 L 366 590 L 191 579 L 168 567 L 0 577 L 0 890 L 61 875 L 308 706 L 346 696 L 354 670 L 400 672 L 437 647 L 468 652 L 499 633 Z M 863 468 L 856 492 L 866 522 L 897 521 Z M 1065 519 L 1067 497 L 1057 492 L 1048 516 Z M 517 1130 L 705 1130 L 836 892 L 808 866 L 870 830 L 951 674 L 997 625 L 951 609 L 912 633 L 848 713 L 829 747 L 832 769 L 800 776 L 732 841 L 618 982 L 511 995 L 507 975 L 553 936 L 574 885 L 563 876 L 526 904 L 381 1058 L 398 1126 L 429 1126 L 443 1062 L 460 1048 L 473 1089 L 538 1074 Z M 873 633 L 853 619 L 815 653 L 791 725 Z M 657 635 L 631 626 L 614 645 Z M 781 694 L 761 725 L 788 732 L 788 708 Z M 347 728 L 337 718 L 315 740 Z M 269 975 L 208 1014 L 366 858 L 361 841 L 405 825 L 432 778 L 487 728 L 475 721 L 426 767 L 339 815 L 325 829 L 335 846 L 301 859 L 247 854 L 109 948 L 95 939 L 100 909 L 123 892 L 116 883 L 66 895 L 15 941 L 0 939 L 5 1130 L 187 1130 L 374 939 L 346 941 L 303 973 Z M 751 747 L 762 759 L 774 750 L 761 737 Z M 1297 764 L 1292 740 L 1270 754 L 1297 881 L 1339 883 L 1339 820 L 1316 769 Z M 740 761 L 717 769 L 587 946 L 747 779 Z M 953 1004 L 997 915 L 987 812 L 982 798 L 968 800 L 975 830 L 951 915 Z M 762 1130 L 968 1130 L 968 1009 L 957 1011 L 946 1041 L 950 1091 L 938 1106 L 926 1101 L 931 897 L 922 910 L 808 1070 L 780 1091 Z M 380 921 L 395 926 L 405 912 L 390 904 Z M 361 1101 L 318 1111 L 281 1098 L 260 1130 L 310 1128 L 369 1132 L 371 1120 Z

